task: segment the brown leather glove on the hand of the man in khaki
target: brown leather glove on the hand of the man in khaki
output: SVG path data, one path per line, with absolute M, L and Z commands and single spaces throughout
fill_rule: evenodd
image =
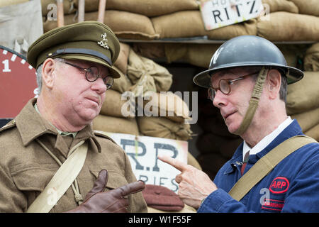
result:
M 140 192 L 145 188 L 145 183 L 138 181 L 103 192 L 106 182 L 108 182 L 108 172 L 101 170 L 94 187 L 86 194 L 84 202 L 67 213 L 127 213 L 125 207 L 128 206 L 128 199 L 124 196 Z

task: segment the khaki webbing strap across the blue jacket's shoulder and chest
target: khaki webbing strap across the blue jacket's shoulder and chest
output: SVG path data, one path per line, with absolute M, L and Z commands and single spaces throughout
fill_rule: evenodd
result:
M 281 160 L 284 160 L 285 157 L 308 143 L 318 142 L 306 135 L 296 135 L 280 143 L 276 148 L 269 151 L 267 155 L 259 159 L 250 170 L 237 181 L 228 194 L 230 194 L 233 199 L 240 201 L 240 199 L 262 178 L 268 175 Z

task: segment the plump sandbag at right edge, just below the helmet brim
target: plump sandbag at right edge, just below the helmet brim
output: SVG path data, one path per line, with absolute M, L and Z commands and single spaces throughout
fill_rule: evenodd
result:
M 319 72 L 304 72 L 300 81 L 290 84 L 287 90 L 287 114 L 301 114 L 319 107 Z

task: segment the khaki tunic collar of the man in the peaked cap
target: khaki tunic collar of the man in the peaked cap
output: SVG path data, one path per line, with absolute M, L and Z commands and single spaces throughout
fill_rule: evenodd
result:
M 28 104 L 23 107 L 15 118 L 16 127 L 21 135 L 22 143 L 25 146 L 35 140 L 35 138 L 40 137 L 40 135 L 46 133 L 51 133 L 53 135 L 58 134 L 56 128 L 35 111 L 34 104 L 36 101 L 37 99 L 30 99 Z M 89 125 L 79 131 L 74 140 L 89 140 L 91 149 L 101 153 L 101 145 L 96 140 L 94 132 Z

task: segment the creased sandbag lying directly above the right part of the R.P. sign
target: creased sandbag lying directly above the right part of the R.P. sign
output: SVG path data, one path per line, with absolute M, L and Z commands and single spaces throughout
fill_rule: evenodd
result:
M 162 117 L 138 117 L 138 127 L 143 135 L 173 140 L 191 139 L 191 126 Z

